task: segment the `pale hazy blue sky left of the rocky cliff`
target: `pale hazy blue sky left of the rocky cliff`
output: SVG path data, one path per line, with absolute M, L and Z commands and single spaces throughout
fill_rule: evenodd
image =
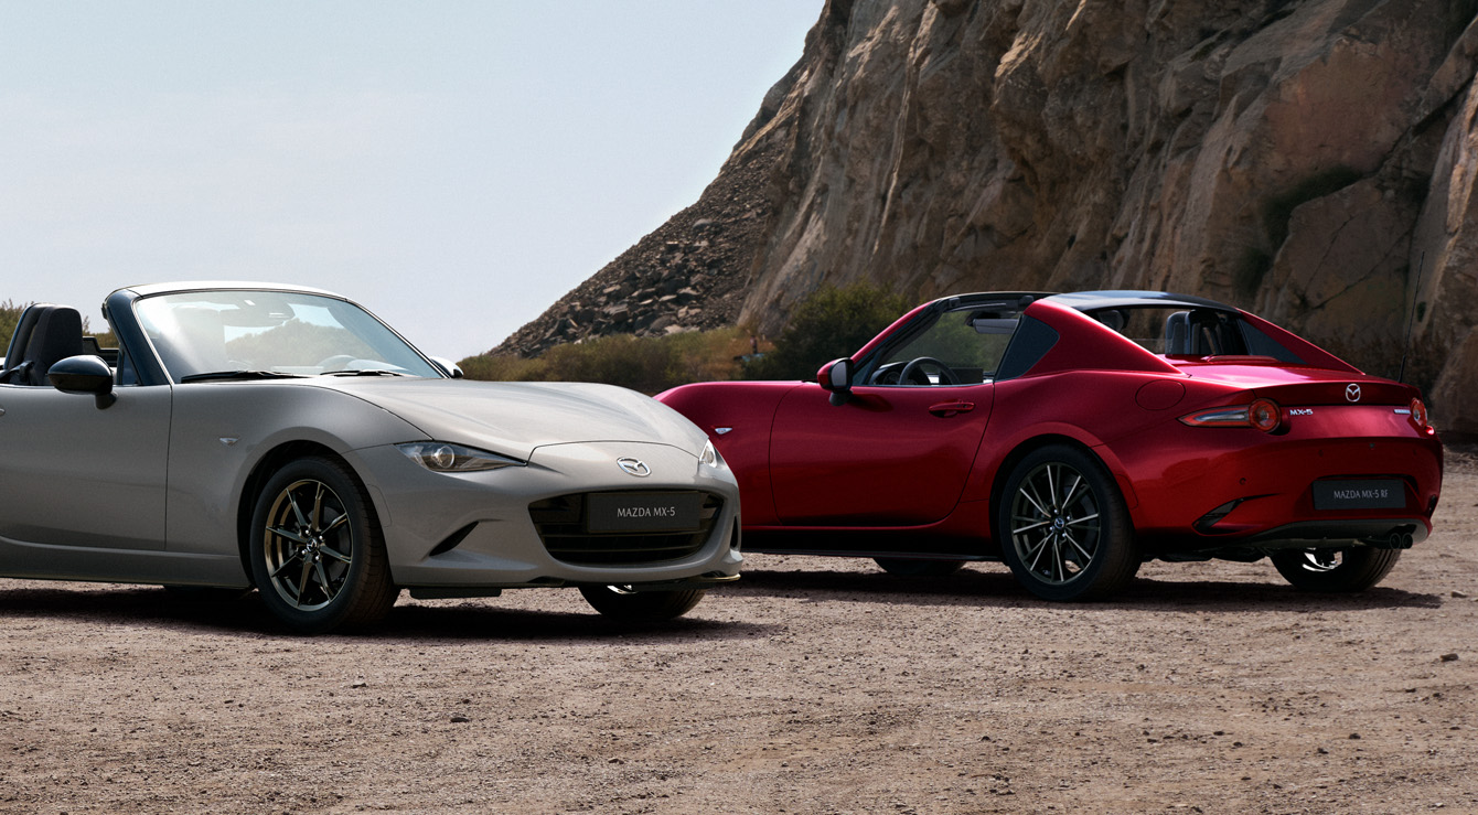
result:
M 0 0 L 0 300 L 296 283 L 486 351 L 698 200 L 822 4 Z

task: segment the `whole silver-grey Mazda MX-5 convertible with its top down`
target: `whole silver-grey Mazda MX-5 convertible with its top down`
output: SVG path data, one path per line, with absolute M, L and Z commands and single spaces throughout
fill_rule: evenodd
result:
M 738 578 L 702 430 L 619 388 L 474 383 L 313 288 L 34 305 L 0 371 L 0 575 L 256 587 L 321 633 L 414 598 L 578 587 L 627 620 Z

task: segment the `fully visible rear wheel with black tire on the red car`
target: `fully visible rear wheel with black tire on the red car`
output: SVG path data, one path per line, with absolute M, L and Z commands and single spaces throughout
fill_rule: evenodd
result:
M 996 540 L 1015 578 L 1048 601 L 1103 599 L 1140 571 L 1119 487 L 1095 457 L 1075 447 L 1043 447 L 1011 470 Z

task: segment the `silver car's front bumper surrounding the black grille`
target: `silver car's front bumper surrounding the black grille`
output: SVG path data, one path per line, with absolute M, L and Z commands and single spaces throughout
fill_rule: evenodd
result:
M 650 475 L 636 478 L 616 459 L 636 457 Z M 739 490 L 727 467 L 701 464 L 658 442 L 545 445 L 526 466 L 477 473 L 435 473 L 395 447 L 355 451 L 384 531 L 390 572 L 418 596 L 477 596 L 514 587 L 622 584 L 695 587 L 733 580 L 743 562 Z M 699 491 L 717 498 L 706 538 L 677 556 L 619 565 L 582 565 L 550 553 L 531 504 L 584 493 Z M 423 590 L 418 590 L 423 589 Z

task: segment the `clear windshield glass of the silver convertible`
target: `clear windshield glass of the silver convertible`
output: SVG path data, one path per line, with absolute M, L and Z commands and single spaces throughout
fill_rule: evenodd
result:
M 359 306 L 296 291 L 186 291 L 140 297 L 139 324 L 174 382 L 273 376 L 440 377 Z

